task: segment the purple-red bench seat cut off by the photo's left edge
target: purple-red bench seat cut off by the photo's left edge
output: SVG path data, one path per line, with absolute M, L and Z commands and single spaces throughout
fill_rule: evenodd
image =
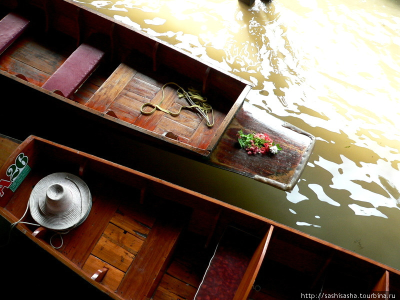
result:
M 0 20 L 0 54 L 27 28 L 29 20 L 14 12 Z

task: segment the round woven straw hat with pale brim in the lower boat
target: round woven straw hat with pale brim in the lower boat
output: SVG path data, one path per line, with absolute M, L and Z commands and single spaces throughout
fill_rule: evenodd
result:
M 86 219 L 90 208 L 91 194 L 86 183 L 78 176 L 65 172 L 42 178 L 29 197 L 33 219 L 53 230 L 76 227 Z

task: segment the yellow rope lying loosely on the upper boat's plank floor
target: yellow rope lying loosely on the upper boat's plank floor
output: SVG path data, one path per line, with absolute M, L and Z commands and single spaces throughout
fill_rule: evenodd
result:
M 164 96 L 165 96 L 165 94 L 164 94 L 164 87 L 165 87 L 166 85 L 169 85 L 169 84 L 174 84 L 174 85 L 176 85 L 176 86 L 178 87 L 178 89 L 176 90 L 176 91 L 177 91 L 177 94 L 178 94 L 178 97 L 179 97 L 179 98 L 186 98 L 186 100 L 187 100 L 191 105 L 182 105 L 182 106 L 179 107 L 179 110 L 178 110 L 177 112 L 173 112 L 173 111 L 170 111 L 170 110 L 168 110 L 168 109 L 162 108 L 160 105 L 161 105 L 162 101 L 164 100 Z M 143 114 L 151 114 L 151 113 L 153 113 L 155 110 L 159 109 L 159 110 L 161 110 L 161 111 L 163 111 L 163 112 L 165 112 L 165 113 L 169 113 L 169 114 L 172 115 L 172 116 L 176 116 L 176 115 L 178 115 L 178 114 L 180 113 L 180 111 L 181 111 L 183 108 L 195 108 L 195 109 L 197 109 L 197 111 L 205 118 L 208 127 L 212 127 L 212 126 L 214 125 L 214 112 L 213 112 L 213 110 L 212 110 L 212 107 L 211 107 L 211 105 L 209 105 L 208 103 L 206 103 L 207 98 L 202 97 L 202 96 L 199 94 L 198 90 L 195 90 L 194 88 L 188 88 L 188 91 L 185 91 L 182 87 L 180 87 L 178 84 L 176 84 L 176 83 L 174 83 L 174 82 L 165 83 L 164 85 L 162 85 L 162 88 L 161 88 L 161 89 L 162 89 L 162 98 L 161 98 L 161 101 L 159 101 L 158 104 L 151 103 L 151 102 L 146 102 L 146 103 L 144 103 L 144 104 L 141 105 L 141 107 L 140 107 L 140 112 L 141 112 L 141 113 L 143 113 Z M 144 111 L 143 108 L 144 108 L 145 106 L 151 106 L 151 107 L 153 107 L 153 109 L 151 109 L 150 111 Z M 209 120 L 208 113 L 211 113 L 212 122 L 210 122 L 210 120 Z

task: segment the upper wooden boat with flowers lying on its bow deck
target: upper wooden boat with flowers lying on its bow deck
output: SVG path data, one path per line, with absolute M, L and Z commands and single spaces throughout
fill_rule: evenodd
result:
M 279 189 L 291 190 L 298 181 L 314 136 L 268 113 L 257 115 L 259 109 L 245 101 L 250 82 L 72 0 L 0 0 L 0 5 L 0 30 L 7 33 L 0 39 L 0 82 L 18 98 L 3 103 L 3 110 L 82 115 L 116 134 Z M 205 111 L 212 127 L 194 108 L 176 116 L 154 108 L 178 111 L 189 104 L 191 98 L 179 97 L 189 87 L 212 107 L 213 114 Z M 1 122 L 9 127 L 15 115 Z M 237 142 L 241 129 L 268 134 L 282 151 L 247 155 Z

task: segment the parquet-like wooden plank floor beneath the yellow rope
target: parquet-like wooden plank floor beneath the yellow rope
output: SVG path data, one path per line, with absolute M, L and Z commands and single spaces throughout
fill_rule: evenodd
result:
M 226 117 L 226 108 L 221 109 L 218 107 L 219 104 L 213 106 L 212 128 L 207 127 L 205 119 L 194 109 L 182 109 L 177 116 L 171 116 L 160 110 L 155 110 L 150 115 L 140 113 L 140 107 L 144 103 L 159 104 L 161 101 L 162 108 L 177 112 L 182 105 L 189 103 L 178 97 L 176 85 L 167 85 L 163 89 L 162 86 L 168 82 L 176 82 L 179 85 L 184 82 L 187 86 L 192 83 L 186 82 L 187 78 L 182 78 L 171 70 L 152 71 L 142 65 L 145 60 L 142 57 L 135 57 L 129 62 L 121 63 L 89 99 L 86 106 L 101 112 L 111 110 L 119 119 L 128 123 L 160 135 L 172 132 L 179 141 L 201 149 L 206 148 Z M 150 62 L 147 65 L 151 65 Z M 165 77 L 165 73 L 169 76 Z M 180 86 L 186 89 L 186 85 Z M 117 88 L 111 89 L 110 86 Z M 144 107 L 143 110 L 151 111 L 151 109 L 153 106 Z M 212 121 L 212 116 L 209 117 Z

